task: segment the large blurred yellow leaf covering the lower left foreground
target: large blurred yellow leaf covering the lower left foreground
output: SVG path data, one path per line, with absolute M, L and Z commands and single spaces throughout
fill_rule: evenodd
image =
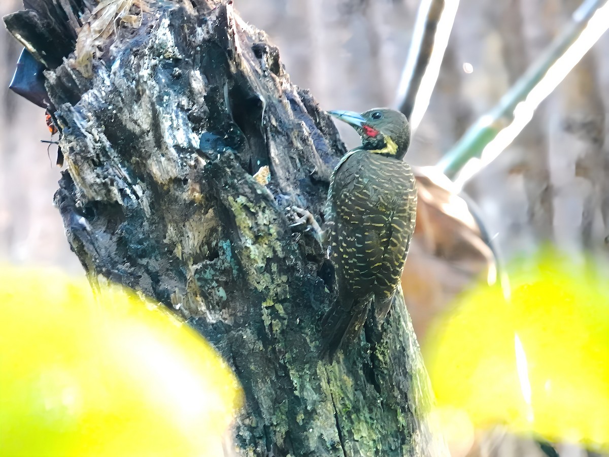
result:
M 0 455 L 216 457 L 241 403 L 227 364 L 162 306 L 0 267 Z

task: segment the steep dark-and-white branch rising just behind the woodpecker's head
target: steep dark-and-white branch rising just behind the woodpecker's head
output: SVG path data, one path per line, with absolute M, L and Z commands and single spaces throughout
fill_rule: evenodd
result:
M 429 105 L 458 5 L 459 0 L 423 0 L 419 5 L 398 86 L 399 109 L 410 119 L 413 130 Z

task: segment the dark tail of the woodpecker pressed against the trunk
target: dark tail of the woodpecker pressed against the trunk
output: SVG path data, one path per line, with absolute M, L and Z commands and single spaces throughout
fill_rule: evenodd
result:
M 322 319 L 322 358 L 333 358 L 340 347 L 357 338 L 366 317 L 372 296 L 337 299 Z

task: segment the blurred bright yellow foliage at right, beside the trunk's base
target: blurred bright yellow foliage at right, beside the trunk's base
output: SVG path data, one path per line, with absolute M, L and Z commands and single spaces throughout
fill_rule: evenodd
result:
M 607 277 L 550 251 L 512 270 L 511 297 L 479 286 L 424 344 L 440 411 L 608 449 Z

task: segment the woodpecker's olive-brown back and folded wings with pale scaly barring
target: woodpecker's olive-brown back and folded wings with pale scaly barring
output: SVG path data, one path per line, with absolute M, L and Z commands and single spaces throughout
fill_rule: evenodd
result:
M 392 296 L 414 232 L 417 192 L 410 166 L 353 152 L 334 172 L 329 194 L 331 258 L 340 290 L 376 299 Z

